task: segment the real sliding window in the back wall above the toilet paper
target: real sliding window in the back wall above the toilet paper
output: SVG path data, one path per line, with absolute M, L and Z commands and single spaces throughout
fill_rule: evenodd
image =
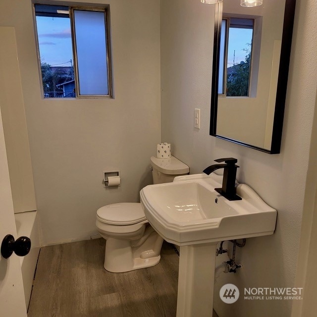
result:
M 34 8 L 44 98 L 111 97 L 106 8 Z

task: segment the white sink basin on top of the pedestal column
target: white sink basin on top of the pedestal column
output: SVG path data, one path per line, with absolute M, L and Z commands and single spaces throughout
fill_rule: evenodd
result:
M 274 232 L 276 210 L 246 184 L 239 184 L 242 200 L 229 201 L 214 188 L 218 175 L 190 175 L 173 183 L 141 190 L 144 212 L 155 230 L 179 246 L 250 238 Z

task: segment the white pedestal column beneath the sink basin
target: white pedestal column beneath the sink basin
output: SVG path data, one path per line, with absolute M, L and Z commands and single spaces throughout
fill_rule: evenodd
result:
M 176 317 L 212 317 L 216 243 L 181 246 Z

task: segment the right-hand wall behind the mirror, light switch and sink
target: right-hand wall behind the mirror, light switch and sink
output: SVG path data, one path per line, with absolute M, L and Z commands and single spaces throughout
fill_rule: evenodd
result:
M 244 267 L 225 274 L 215 287 L 219 317 L 291 315 L 288 301 L 222 303 L 225 282 L 243 287 L 292 287 L 301 230 L 312 117 L 316 99 L 317 4 L 298 1 L 286 99 L 281 154 L 268 155 L 209 136 L 213 8 L 199 0 L 161 0 L 161 134 L 173 155 L 200 173 L 213 159 L 238 159 L 238 181 L 247 183 L 277 209 L 272 236 L 247 239 L 237 250 Z M 194 108 L 201 129 L 194 129 Z M 222 256 L 218 261 L 226 261 Z

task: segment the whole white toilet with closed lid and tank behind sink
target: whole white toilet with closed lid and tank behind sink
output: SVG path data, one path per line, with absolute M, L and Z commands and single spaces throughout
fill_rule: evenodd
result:
M 186 175 L 189 167 L 180 160 L 151 158 L 154 184 L 172 182 Z M 119 203 L 97 211 L 96 225 L 106 239 L 104 267 L 126 272 L 159 263 L 163 238 L 151 227 L 140 203 Z

